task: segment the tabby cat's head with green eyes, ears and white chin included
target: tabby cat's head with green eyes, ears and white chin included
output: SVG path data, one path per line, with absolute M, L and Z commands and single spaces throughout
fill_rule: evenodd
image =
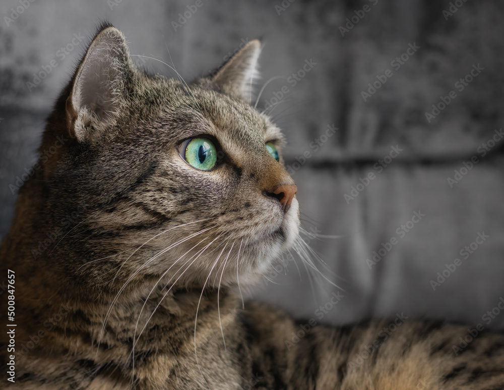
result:
M 41 147 L 68 139 L 44 164 L 48 219 L 79 215 L 50 255 L 60 268 L 111 289 L 245 284 L 292 246 L 284 137 L 250 102 L 260 46 L 187 85 L 138 70 L 116 28 L 98 32 Z

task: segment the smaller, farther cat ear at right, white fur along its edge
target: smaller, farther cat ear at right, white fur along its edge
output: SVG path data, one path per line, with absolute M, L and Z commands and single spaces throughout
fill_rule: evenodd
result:
M 258 77 L 257 60 L 261 52 L 261 41 L 248 42 L 211 77 L 212 82 L 223 93 L 250 102 L 254 80 Z

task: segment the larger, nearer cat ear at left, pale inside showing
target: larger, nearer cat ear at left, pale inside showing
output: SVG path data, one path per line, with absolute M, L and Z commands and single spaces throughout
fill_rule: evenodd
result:
M 113 125 L 135 75 L 128 45 L 113 26 L 95 36 L 72 81 L 66 102 L 67 127 L 79 142 L 98 142 Z

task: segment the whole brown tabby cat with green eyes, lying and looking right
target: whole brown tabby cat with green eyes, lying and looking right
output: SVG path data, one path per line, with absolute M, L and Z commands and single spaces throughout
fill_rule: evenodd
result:
M 300 229 L 284 136 L 251 104 L 260 49 L 250 41 L 187 85 L 140 71 L 123 34 L 99 29 L 0 250 L 2 313 L 16 325 L 2 332 L 3 385 L 504 388 L 501 333 L 454 352 L 467 326 L 403 315 L 312 326 L 242 307 L 235 288 L 258 282 Z

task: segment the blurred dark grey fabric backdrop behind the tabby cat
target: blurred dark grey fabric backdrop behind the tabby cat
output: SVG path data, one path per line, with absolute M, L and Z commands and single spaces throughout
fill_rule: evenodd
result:
M 186 80 L 260 37 L 257 106 L 289 140 L 303 227 L 323 236 L 305 239 L 327 265 L 313 261 L 344 291 L 286 257 L 246 296 L 332 323 L 403 312 L 504 328 L 504 312 L 482 320 L 504 296 L 504 4 L 196 3 L 2 1 L 0 236 L 100 22 L 150 57 L 138 66 Z

